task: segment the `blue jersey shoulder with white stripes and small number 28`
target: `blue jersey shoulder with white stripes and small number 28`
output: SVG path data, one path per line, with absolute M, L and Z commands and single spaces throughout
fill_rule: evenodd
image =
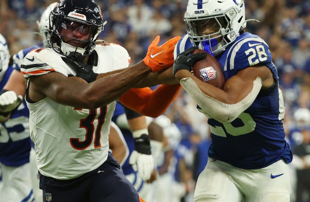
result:
M 224 70 L 241 70 L 255 64 L 271 62 L 271 52 L 259 36 L 245 33 L 236 39 L 227 52 Z

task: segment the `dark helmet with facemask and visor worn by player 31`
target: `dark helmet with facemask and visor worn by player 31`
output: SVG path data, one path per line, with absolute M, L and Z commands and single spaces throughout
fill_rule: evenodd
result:
M 94 0 L 61 0 L 49 19 L 48 43 L 64 56 L 90 55 L 106 23 Z

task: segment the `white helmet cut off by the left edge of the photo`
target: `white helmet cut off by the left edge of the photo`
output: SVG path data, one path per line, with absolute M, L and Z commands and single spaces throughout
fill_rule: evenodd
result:
M 9 67 L 10 52 L 5 37 L 0 34 L 0 81 Z

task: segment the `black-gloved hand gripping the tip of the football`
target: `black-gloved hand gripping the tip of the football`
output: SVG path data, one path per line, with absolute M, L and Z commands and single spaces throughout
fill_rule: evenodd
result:
M 191 71 L 194 63 L 204 59 L 207 56 L 207 53 L 205 52 L 198 52 L 195 54 L 190 54 L 194 49 L 197 49 L 197 48 L 198 47 L 196 46 L 190 47 L 186 49 L 184 52 L 181 52 L 180 54 L 178 54 L 178 56 L 176 57 L 173 63 L 173 75 L 175 75 L 175 73 L 181 69 Z

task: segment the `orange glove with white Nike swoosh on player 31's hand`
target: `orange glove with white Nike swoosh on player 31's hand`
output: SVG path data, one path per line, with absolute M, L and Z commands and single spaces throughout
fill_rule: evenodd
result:
M 180 36 L 171 38 L 161 46 L 157 46 L 160 40 L 160 36 L 156 36 L 153 42 L 150 44 L 146 56 L 144 57 L 144 63 L 149 66 L 152 71 L 161 71 L 173 64 L 173 51 L 174 46 L 180 40 Z

